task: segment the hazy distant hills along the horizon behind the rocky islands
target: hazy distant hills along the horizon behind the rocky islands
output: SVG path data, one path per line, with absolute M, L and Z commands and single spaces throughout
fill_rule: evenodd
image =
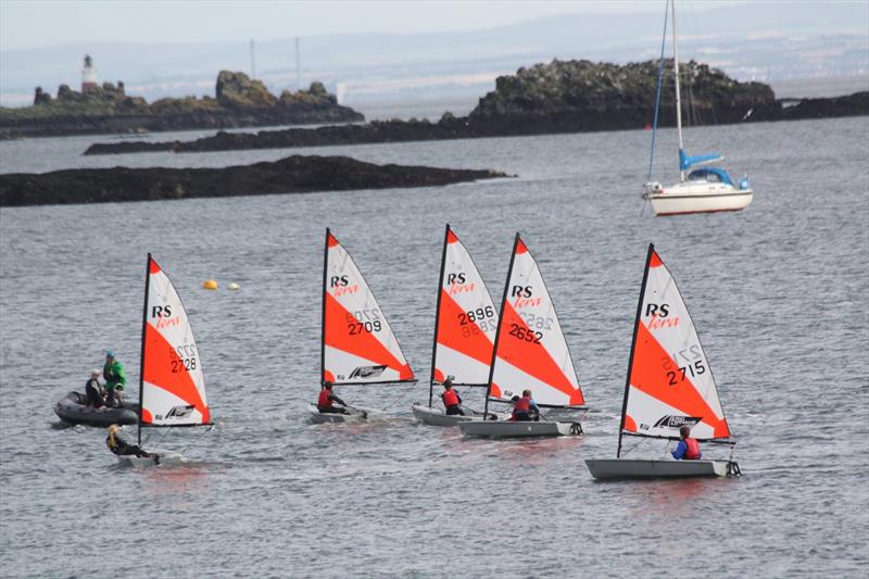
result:
M 651 7 L 652 4 L 650 4 Z M 747 2 L 680 13 L 684 60 L 740 80 L 817 76 L 857 78 L 869 87 L 869 4 Z M 564 14 L 468 33 L 303 37 L 302 77 L 342 84 L 350 104 L 382 100 L 467 99 L 494 78 L 537 62 L 655 59 L 664 14 Z M 247 42 L 75 45 L 0 52 L 0 102 L 27 104 L 33 87 L 76 86 L 79 61 L 95 56 L 101 79 L 124 78 L 131 95 L 213 95 L 211 71 L 245 70 Z M 257 78 L 273 92 L 298 89 L 291 38 L 256 41 Z M 859 87 L 858 87 L 859 88 Z M 856 89 L 856 88 L 855 88 Z

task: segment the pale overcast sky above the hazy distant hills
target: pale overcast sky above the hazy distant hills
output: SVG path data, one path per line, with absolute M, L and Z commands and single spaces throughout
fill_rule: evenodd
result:
M 685 1 L 696 11 L 734 3 Z M 340 33 L 473 30 L 566 12 L 658 14 L 664 2 L 0 0 L 0 50 L 73 42 L 207 42 Z

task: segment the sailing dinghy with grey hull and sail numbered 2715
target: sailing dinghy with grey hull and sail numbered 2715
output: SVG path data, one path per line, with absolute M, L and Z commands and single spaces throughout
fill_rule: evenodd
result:
M 588 460 L 594 478 L 657 478 L 739 475 L 729 461 L 622 458 L 622 436 L 679 440 L 682 426 L 708 443 L 730 439 L 709 362 L 676 280 L 650 243 L 637 305 L 621 425 L 615 458 Z

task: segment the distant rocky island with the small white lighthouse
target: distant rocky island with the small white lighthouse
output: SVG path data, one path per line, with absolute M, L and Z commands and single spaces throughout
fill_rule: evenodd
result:
M 33 106 L 0 108 L 0 139 L 365 119 L 353 109 L 339 105 L 322 83 L 313 83 L 308 90 L 285 90 L 278 98 L 244 73 L 222 71 L 215 93 L 215 98 L 167 98 L 149 104 L 142 98 L 128 97 L 123 83 L 104 83 L 87 93 L 61 85 L 55 99 L 40 87 Z

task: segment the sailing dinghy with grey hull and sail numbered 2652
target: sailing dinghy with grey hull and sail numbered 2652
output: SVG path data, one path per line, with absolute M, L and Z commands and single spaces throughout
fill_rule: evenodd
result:
M 540 407 L 585 410 L 574 361 L 555 306 L 537 261 L 519 234 L 501 300 L 495 341 L 487 380 L 483 416 L 489 401 L 509 402 L 531 390 Z M 468 437 L 556 437 L 582 433 L 579 421 L 470 420 L 459 423 Z

